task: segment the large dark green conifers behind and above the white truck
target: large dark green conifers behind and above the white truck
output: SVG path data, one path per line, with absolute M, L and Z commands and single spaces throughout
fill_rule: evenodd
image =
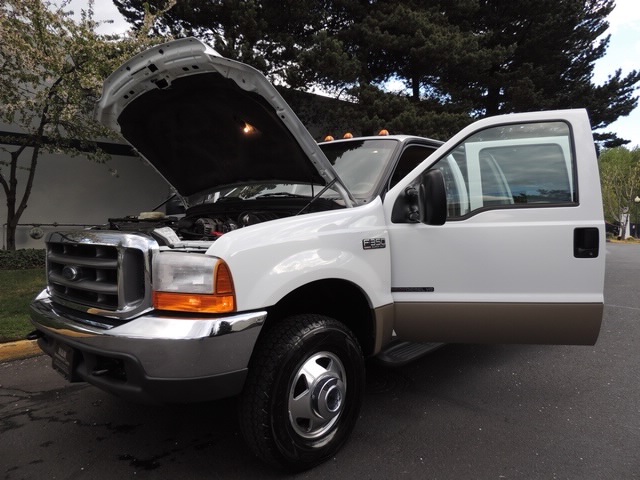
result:
M 279 85 L 347 98 L 355 105 L 343 123 L 354 131 L 384 124 L 448 138 L 473 118 L 564 108 L 587 108 L 600 130 L 638 103 L 638 71 L 591 83 L 614 0 L 114 3 L 134 28 L 143 28 L 145 11 L 164 11 L 156 32 L 197 36 Z M 375 92 L 392 80 L 404 85 L 400 94 Z M 372 95 L 375 103 L 366 103 Z M 334 116 L 328 112 L 327 130 Z M 595 138 L 606 148 L 626 143 L 612 133 Z

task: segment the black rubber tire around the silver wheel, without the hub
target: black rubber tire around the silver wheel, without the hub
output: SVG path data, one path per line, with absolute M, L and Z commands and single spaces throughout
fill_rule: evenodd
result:
M 349 348 L 355 348 L 357 355 L 352 358 L 349 368 L 355 372 L 348 385 L 347 396 L 355 405 L 349 407 L 349 417 L 341 419 L 343 429 L 328 445 L 318 449 L 316 458 L 291 458 L 278 447 L 278 426 L 273 425 L 273 399 L 287 359 L 292 352 L 302 352 L 305 339 L 327 332 L 344 337 Z M 309 352 L 313 353 L 313 352 Z M 310 355 L 309 355 L 310 356 Z M 356 358 L 357 357 L 357 358 Z M 344 358 L 341 358 L 345 362 Z M 239 425 L 245 443 L 262 461 L 290 471 L 311 468 L 333 456 L 346 442 L 356 423 L 364 392 L 364 359 L 357 339 L 341 322 L 323 315 L 301 314 L 288 317 L 271 327 L 260 339 L 251 360 L 245 387 L 238 401 Z M 343 413 L 347 413 L 346 411 Z M 276 427 L 274 429 L 274 427 Z

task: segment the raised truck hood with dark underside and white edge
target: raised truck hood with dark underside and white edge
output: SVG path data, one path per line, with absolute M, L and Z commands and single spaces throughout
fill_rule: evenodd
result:
M 96 119 L 182 196 L 234 183 L 333 183 L 353 199 L 271 83 L 195 38 L 155 46 L 107 78 Z

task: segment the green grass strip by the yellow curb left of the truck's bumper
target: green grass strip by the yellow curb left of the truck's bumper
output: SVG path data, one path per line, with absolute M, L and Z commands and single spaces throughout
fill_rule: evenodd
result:
M 29 303 L 45 283 L 44 268 L 0 270 L 0 342 L 24 340 L 33 331 Z

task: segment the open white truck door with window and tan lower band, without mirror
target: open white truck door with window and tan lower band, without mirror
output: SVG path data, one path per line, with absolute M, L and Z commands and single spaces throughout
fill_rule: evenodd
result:
M 586 114 L 472 125 L 398 182 L 385 209 L 428 168 L 443 170 L 449 218 L 443 226 L 390 224 L 396 333 L 414 341 L 595 342 L 604 223 Z M 586 241 L 580 232 L 589 232 Z M 576 242 L 590 253 L 576 256 Z

